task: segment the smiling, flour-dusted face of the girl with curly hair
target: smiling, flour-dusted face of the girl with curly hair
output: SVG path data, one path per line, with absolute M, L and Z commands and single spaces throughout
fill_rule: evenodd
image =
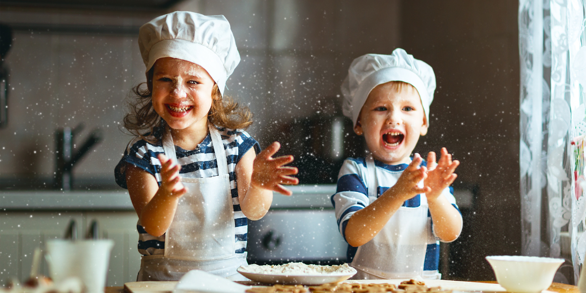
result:
M 214 80 L 203 67 L 165 57 L 156 60 L 152 77 L 152 105 L 169 127 L 205 127 L 212 107 Z

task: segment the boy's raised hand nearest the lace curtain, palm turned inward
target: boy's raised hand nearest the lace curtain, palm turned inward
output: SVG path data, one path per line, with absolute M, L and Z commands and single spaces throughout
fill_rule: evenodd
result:
M 458 175 L 454 173 L 456 167 L 460 165 L 459 161 L 452 161 L 452 155 L 448 154 L 446 148 L 441 149 L 440 162 L 435 162 L 435 152 L 427 155 L 427 179 L 424 180 L 424 186 L 430 188 L 425 193 L 428 200 L 434 200 L 440 196 L 442 190 L 454 183 Z

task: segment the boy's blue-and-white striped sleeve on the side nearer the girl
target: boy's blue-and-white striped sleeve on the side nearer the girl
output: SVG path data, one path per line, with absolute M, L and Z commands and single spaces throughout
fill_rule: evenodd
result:
M 346 159 L 338 175 L 336 193 L 332 195 L 332 205 L 336 210 L 336 220 L 340 234 L 346 239 L 346 224 L 357 211 L 369 205 L 367 188 L 364 185 L 362 163 L 356 159 Z

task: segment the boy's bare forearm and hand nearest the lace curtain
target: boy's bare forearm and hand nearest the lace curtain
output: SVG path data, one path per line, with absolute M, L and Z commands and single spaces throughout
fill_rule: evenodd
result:
M 439 163 L 435 163 L 434 152 L 427 156 L 428 172 L 424 185 L 431 190 L 426 192 L 425 196 L 434 222 L 435 235 L 446 242 L 454 241 L 462 231 L 462 216 L 448 199 L 441 195 L 442 191 L 456 179 L 454 171 L 459 164 L 458 161 L 452 161 L 452 155 L 448 154 L 446 148 L 441 149 Z

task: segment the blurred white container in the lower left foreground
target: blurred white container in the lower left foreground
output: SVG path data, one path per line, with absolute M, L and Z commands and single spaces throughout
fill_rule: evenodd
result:
M 113 240 L 49 240 L 47 263 L 53 281 L 78 277 L 86 293 L 103 293 Z

